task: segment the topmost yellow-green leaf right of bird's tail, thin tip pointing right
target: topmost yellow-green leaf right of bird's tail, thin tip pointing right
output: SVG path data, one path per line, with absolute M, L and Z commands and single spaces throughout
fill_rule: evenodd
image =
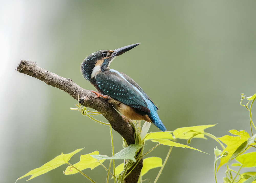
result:
M 210 128 L 215 125 L 200 125 L 200 126 L 177 128 L 176 130 L 173 131 L 173 135 L 175 136 L 176 139 L 179 138 L 179 139 L 188 140 L 192 138 L 195 133 L 197 132 L 204 133 L 204 130 L 206 128 Z M 204 137 L 204 134 L 198 134 L 193 138 L 205 138 L 205 137 Z

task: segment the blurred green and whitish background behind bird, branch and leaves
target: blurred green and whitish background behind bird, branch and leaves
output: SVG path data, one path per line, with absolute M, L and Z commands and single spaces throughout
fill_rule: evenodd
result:
M 255 9 L 254 0 L 1 1 L 1 182 L 15 182 L 61 152 L 85 147 L 82 154 L 99 150 L 111 155 L 109 127 L 71 111 L 77 101 L 63 91 L 17 72 L 20 60 L 93 90 L 80 73 L 84 58 L 141 42 L 111 68 L 144 89 L 169 131 L 218 123 L 206 131 L 217 137 L 231 129 L 249 132 L 248 111 L 239 103 L 240 93 L 256 91 Z M 150 131 L 159 130 L 151 125 Z M 146 145 L 150 149 L 155 144 Z M 190 145 L 210 155 L 173 148 L 159 182 L 215 182 L 213 148 L 219 145 L 212 139 L 194 139 Z M 115 152 L 122 149 L 116 132 L 114 146 Z M 168 149 L 159 146 L 150 156 L 164 160 Z M 79 153 L 70 162 L 78 160 Z M 29 182 L 89 182 L 80 174 L 64 176 L 65 168 Z M 158 171 L 143 178 L 153 182 Z M 219 170 L 218 182 L 224 171 Z M 106 180 L 100 166 L 84 172 L 96 182 Z

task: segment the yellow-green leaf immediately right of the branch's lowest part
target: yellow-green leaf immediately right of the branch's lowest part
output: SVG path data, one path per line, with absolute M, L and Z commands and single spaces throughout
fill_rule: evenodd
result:
M 159 157 L 149 157 L 143 159 L 143 167 L 141 169 L 141 176 L 145 175 L 148 170 L 153 168 L 162 167 L 162 159 Z

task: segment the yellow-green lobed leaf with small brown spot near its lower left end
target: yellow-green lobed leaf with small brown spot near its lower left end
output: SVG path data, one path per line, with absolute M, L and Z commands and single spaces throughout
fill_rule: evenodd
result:
M 86 168 L 91 168 L 91 170 L 97 166 L 100 165 L 100 163 L 103 163 L 105 161 L 105 159 L 103 160 L 98 160 L 91 157 L 90 155 L 98 155 L 99 151 L 94 151 L 92 153 L 89 154 L 84 154 L 80 156 L 80 161 L 77 162 L 76 164 L 74 164 L 74 167 L 76 167 L 77 169 L 79 169 L 80 171 L 86 169 Z M 70 174 L 75 174 L 78 173 L 78 171 L 76 169 L 74 169 L 72 166 L 68 166 L 66 168 L 66 170 L 64 171 L 65 175 L 70 175 Z

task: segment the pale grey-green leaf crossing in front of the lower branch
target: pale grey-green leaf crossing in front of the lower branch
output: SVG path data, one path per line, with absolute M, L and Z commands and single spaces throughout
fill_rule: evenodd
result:
M 134 156 L 136 155 L 136 151 L 139 150 L 142 146 L 131 144 L 123 150 L 119 151 L 112 157 L 104 156 L 104 155 L 91 155 L 93 158 L 97 160 L 100 159 L 131 159 L 134 162 L 136 161 Z

